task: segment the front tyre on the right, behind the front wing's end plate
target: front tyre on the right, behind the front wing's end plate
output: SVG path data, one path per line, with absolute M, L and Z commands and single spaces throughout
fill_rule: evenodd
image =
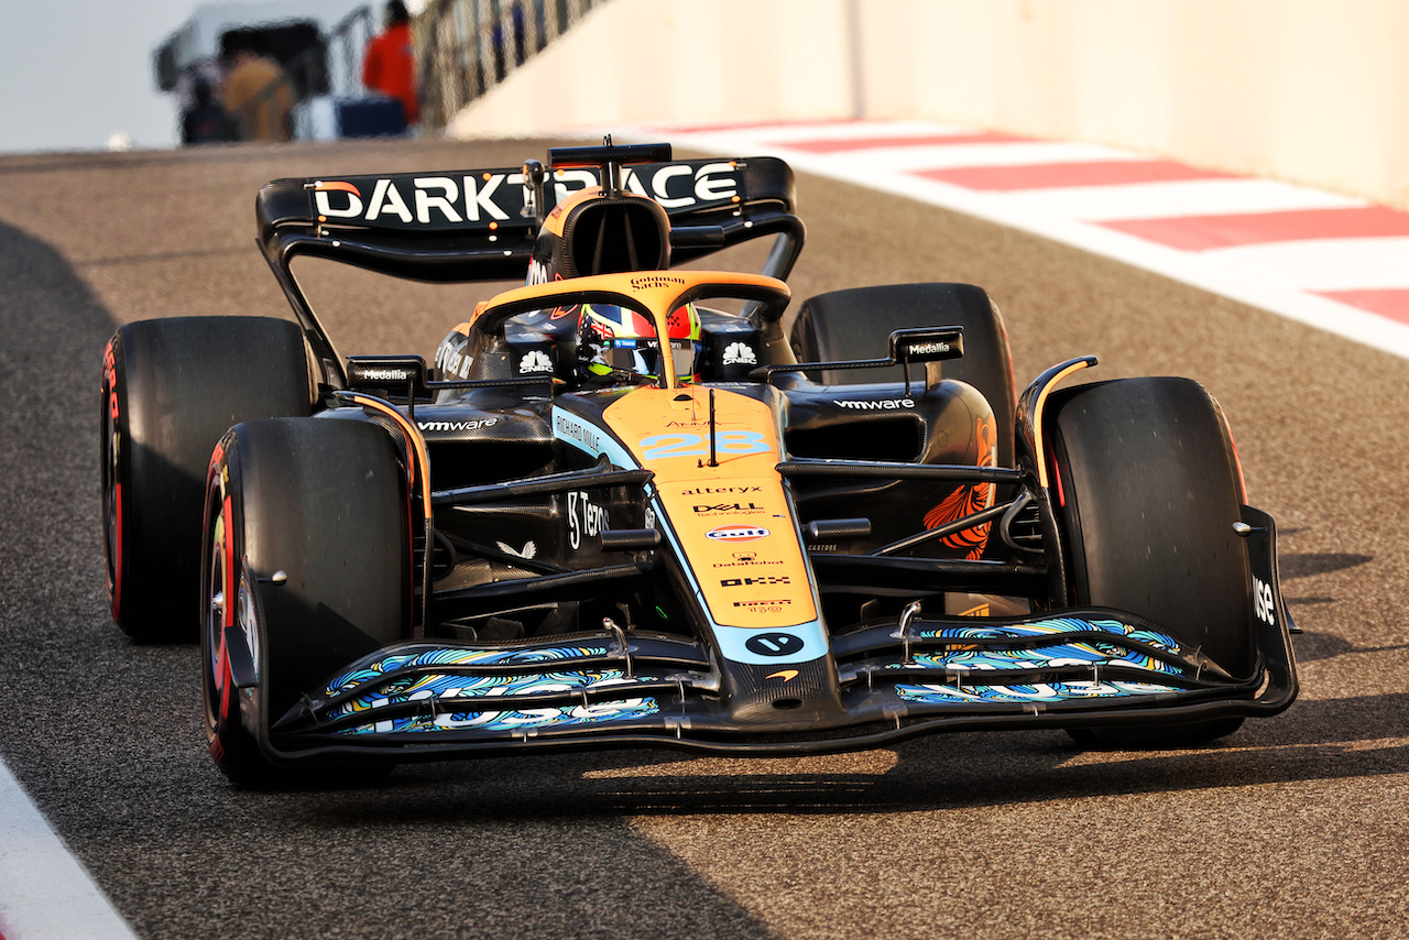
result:
M 1209 393 L 1178 378 L 1084 385 L 1054 393 L 1044 424 L 1075 603 L 1136 613 L 1233 676 L 1251 676 L 1251 575 L 1233 531 L 1243 486 Z M 1241 723 L 1074 729 L 1072 737 L 1102 746 L 1195 744 Z

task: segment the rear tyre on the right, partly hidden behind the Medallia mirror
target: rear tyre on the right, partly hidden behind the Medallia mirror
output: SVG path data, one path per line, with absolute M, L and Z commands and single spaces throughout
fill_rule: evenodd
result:
M 881 359 L 893 330 L 964 327 L 964 355 L 930 364 L 945 379 L 976 388 L 998 421 L 998 462 L 1013 465 L 1013 359 L 1007 330 L 982 287 L 962 283 L 910 283 L 854 287 L 817 295 L 803 303 L 792 326 L 799 362 Z M 898 382 L 899 369 L 823 369 L 824 385 Z

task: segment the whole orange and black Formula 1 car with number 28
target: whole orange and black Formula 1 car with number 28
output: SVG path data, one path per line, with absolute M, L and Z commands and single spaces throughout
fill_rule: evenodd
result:
M 1285 709 L 1274 524 L 1209 393 L 1058 389 L 1091 357 L 1019 393 L 968 285 L 789 316 L 793 204 L 778 159 L 668 145 L 282 179 L 256 214 L 292 320 L 120 328 L 113 616 L 199 633 L 220 768 L 974 729 L 1160 744 Z M 762 273 L 672 266 L 757 237 Z M 433 365 L 344 359 L 299 256 L 527 286 Z

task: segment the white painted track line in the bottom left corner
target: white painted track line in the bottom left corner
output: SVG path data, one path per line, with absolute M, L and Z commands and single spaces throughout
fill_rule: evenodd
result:
M 83 865 L 0 762 L 0 937 L 130 940 L 127 926 Z

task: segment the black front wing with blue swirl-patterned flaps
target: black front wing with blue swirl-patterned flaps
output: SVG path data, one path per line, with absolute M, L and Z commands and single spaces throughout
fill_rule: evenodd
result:
M 1258 650 L 1247 678 L 1155 623 L 1096 607 L 858 624 L 831 637 L 820 664 L 836 682 L 831 713 L 793 713 L 786 698 L 766 715 L 735 710 L 717 653 L 679 637 L 409 641 L 349 664 L 258 734 L 279 762 L 541 747 L 819 754 L 938 731 L 1270 716 L 1296 696 L 1295 627 L 1278 588 L 1272 519 L 1244 507 L 1243 523 Z M 785 672 L 768 678 L 786 684 Z

